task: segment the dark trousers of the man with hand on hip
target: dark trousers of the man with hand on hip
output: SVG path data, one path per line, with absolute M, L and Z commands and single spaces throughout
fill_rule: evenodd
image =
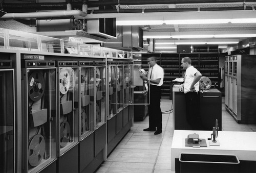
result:
M 199 93 L 197 92 L 185 93 L 185 102 L 186 102 L 186 118 L 192 130 L 202 129 L 202 121 L 200 117 Z

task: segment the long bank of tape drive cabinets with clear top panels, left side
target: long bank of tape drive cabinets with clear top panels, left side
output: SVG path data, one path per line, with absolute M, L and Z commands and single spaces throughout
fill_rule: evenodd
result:
M 0 172 L 94 172 L 132 126 L 131 53 L 5 29 L 0 37 Z M 111 86 L 110 59 L 118 61 Z M 112 148 L 109 108 L 118 113 Z

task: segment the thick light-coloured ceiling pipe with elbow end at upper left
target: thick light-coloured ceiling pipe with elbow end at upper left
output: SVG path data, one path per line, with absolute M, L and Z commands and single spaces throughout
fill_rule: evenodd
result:
M 24 18 L 54 18 L 54 17 L 69 17 L 81 16 L 86 17 L 87 13 L 80 10 L 70 11 L 47 11 L 47 12 L 32 12 L 32 13 L 6 13 L 0 19 L 24 19 Z

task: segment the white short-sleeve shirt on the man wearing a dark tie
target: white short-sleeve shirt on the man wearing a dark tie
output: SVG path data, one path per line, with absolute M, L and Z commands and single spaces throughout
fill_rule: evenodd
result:
M 153 71 L 152 71 L 152 69 L 153 69 Z M 152 73 L 151 73 L 151 71 L 152 71 Z M 163 71 L 162 67 L 160 67 L 158 64 L 155 64 L 153 67 L 150 68 L 150 70 L 148 70 L 148 73 L 147 73 L 148 79 L 150 79 L 150 75 L 151 75 L 151 79 L 153 79 L 153 80 L 161 79 L 159 84 L 151 83 L 151 85 L 157 85 L 157 86 L 163 85 L 164 71 Z

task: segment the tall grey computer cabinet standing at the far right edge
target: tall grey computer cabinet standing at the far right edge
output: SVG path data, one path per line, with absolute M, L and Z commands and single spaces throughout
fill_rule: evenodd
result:
M 239 123 L 256 122 L 256 56 L 225 57 L 225 108 Z

